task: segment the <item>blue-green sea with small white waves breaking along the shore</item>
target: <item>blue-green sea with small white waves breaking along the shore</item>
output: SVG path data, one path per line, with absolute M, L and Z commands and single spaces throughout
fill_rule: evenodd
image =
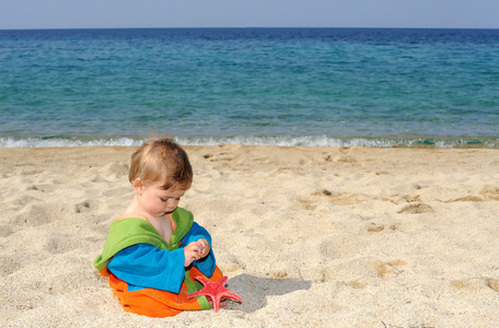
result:
M 0 147 L 499 148 L 499 30 L 0 31 Z

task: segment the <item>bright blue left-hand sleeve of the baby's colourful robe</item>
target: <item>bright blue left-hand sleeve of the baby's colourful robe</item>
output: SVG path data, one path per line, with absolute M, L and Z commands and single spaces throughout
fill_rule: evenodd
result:
M 152 288 L 178 293 L 184 281 L 184 250 L 169 251 L 149 244 L 137 244 L 118 251 L 107 269 L 128 283 L 128 290 Z

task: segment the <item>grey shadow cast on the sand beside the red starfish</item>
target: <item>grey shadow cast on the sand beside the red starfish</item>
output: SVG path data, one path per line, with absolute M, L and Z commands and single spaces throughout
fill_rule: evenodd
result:
M 227 288 L 240 295 L 242 304 L 233 308 L 253 313 L 267 305 L 267 296 L 283 295 L 300 290 L 309 290 L 312 281 L 299 279 L 270 279 L 253 277 L 246 273 L 230 279 Z

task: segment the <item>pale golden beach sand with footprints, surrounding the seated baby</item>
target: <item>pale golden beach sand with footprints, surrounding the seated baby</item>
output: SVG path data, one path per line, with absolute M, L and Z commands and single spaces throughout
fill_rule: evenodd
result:
M 496 327 L 499 151 L 186 147 L 230 309 L 125 313 L 92 266 L 135 148 L 0 149 L 2 327 Z

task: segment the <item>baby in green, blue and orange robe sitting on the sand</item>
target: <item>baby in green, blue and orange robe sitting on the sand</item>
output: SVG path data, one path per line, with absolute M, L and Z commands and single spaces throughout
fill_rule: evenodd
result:
M 111 224 L 95 268 L 126 312 L 166 317 L 210 308 L 205 296 L 187 300 L 202 288 L 194 277 L 218 281 L 223 274 L 209 233 L 178 208 L 193 181 L 186 152 L 171 139 L 147 142 L 131 156 L 128 179 L 135 197 Z

